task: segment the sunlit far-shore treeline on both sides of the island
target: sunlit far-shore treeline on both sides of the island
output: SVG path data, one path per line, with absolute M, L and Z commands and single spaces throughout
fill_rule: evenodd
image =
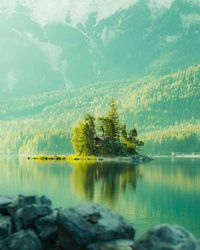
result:
M 34 130 L 31 133 L 0 133 L 0 153 L 72 153 L 71 135 L 62 129 L 47 131 Z M 2 132 L 2 131 L 1 131 Z M 171 154 L 171 152 L 199 152 L 200 125 L 179 124 L 167 129 L 148 132 L 139 136 L 145 144 L 147 154 Z

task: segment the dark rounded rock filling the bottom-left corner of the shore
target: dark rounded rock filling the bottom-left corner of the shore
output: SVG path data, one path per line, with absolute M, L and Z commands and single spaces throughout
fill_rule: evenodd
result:
M 33 230 L 21 230 L 0 244 L 1 250 L 42 250 L 42 244 Z

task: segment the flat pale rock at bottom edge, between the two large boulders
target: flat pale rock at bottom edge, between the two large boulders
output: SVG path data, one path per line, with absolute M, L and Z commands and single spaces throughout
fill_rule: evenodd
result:
M 103 243 L 94 243 L 87 246 L 86 250 L 134 250 L 131 240 L 115 240 Z

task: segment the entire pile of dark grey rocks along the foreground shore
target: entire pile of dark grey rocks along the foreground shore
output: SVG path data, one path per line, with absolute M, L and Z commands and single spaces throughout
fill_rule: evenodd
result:
M 0 195 L 1 250 L 200 250 L 176 225 L 158 225 L 134 241 L 135 229 L 98 204 L 52 209 L 45 196 Z

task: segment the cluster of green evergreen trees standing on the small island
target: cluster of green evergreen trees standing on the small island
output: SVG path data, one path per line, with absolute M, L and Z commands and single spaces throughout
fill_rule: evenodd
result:
M 137 139 L 135 128 L 127 131 L 126 125 L 120 124 L 113 99 L 106 116 L 95 118 L 86 114 L 72 129 L 72 145 L 76 153 L 84 156 L 131 156 L 138 154 L 144 143 Z

